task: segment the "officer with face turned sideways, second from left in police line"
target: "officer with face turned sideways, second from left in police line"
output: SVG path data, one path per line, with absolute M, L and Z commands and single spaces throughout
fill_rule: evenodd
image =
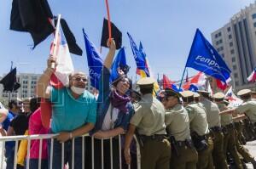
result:
M 162 99 L 166 108 L 166 131 L 172 143 L 171 168 L 196 169 L 198 155 L 190 136 L 189 115 L 180 97 L 179 93 L 167 88 Z

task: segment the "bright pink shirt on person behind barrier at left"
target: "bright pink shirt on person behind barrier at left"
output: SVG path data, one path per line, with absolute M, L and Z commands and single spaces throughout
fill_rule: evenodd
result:
M 41 109 L 35 110 L 33 114 L 30 116 L 29 119 L 29 126 L 28 126 L 29 135 L 33 134 L 47 134 L 48 129 L 43 127 L 42 120 L 41 120 Z M 39 158 L 39 145 L 40 140 L 32 140 L 31 142 L 31 149 L 30 149 L 30 158 L 31 159 L 38 159 Z M 42 159 L 47 159 L 47 140 L 43 140 L 42 144 Z

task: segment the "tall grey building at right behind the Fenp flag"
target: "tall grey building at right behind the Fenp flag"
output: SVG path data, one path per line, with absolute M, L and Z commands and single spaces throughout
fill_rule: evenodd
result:
M 232 71 L 236 91 L 255 87 L 247 77 L 256 67 L 256 3 L 241 9 L 211 37 L 212 45 Z

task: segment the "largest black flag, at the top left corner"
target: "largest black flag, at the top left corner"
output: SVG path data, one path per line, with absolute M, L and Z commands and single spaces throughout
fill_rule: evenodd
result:
M 47 0 L 13 0 L 10 30 L 29 32 L 35 48 L 55 31 L 52 18 Z

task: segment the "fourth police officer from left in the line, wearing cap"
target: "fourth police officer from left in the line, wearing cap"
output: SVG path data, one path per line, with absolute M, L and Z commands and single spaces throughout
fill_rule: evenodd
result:
M 214 166 L 217 169 L 227 169 L 228 163 L 224 156 L 224 135 L 221 128 L 218 105 L 210 100 L 207 91 L 199 91 L 199 93 L 201 95 L 201 104 L 203 104 L 207 112 L 207 122 L 213 136 L 212 159 Z

